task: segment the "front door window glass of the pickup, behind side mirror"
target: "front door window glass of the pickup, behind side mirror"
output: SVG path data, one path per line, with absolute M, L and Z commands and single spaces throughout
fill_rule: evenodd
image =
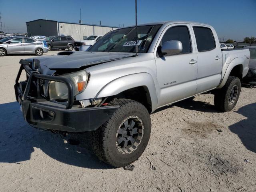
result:
M 191 42 L 188 27 L 186 26 L 175 26 L 169 28 L 162 40 L 161 45 L 166 41 L 177 40 L 182 43 L 182 52 L 181 53 L 190 53 L 191 52 Z

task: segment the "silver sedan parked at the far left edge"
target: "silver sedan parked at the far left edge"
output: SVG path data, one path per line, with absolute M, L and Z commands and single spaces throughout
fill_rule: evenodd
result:
M 0 40 L 0 56 L 6 54 L 36 54 L 47 53 L 46 42 L 26 37 L 7 37 Z

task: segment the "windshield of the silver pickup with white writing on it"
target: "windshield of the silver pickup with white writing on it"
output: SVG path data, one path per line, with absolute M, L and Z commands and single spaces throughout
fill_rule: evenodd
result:
M 138 52 L 146 53 L 161 25 L 137 27 Z M 111 31 L 98 40 L 89 51 L 95 52 L 136 52 L 135 27 Z

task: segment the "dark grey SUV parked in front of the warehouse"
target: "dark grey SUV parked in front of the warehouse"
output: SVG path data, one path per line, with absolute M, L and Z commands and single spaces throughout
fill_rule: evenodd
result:
M 49 51 L 54 48 L 61 50 L 67 48 L 69 51 L 72 51 L 75 44 L 75 40 L 68 36 L 49 36 L 45 40 Z

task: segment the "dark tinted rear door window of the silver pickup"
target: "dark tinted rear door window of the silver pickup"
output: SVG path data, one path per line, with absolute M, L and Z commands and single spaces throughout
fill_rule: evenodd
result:
M 212 30 L 206 27 L 193 27 L 199 52 L 210 51 L 216 47 Z

